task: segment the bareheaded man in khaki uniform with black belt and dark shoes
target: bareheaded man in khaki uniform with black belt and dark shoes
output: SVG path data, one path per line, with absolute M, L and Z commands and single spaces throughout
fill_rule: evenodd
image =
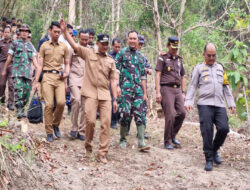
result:
M 59 125 L 65 104 L 65 85 L 69 75 L 69 51 L 67 46 L 58 42 L 61 33 L 60 24 L 52 22 L 50 25 L 51 39 L 41 46 L 40 65 L 43 68 L 41 82 L 43 98 L 45 100 L 45 130 L 47 141 L 53 142 L 53 129 L 57 138 L 61 137 Z M 65 64 L 65 72 L 61 71 Z M 56 110 L 53 112 L 54 96 L 56 97 Z

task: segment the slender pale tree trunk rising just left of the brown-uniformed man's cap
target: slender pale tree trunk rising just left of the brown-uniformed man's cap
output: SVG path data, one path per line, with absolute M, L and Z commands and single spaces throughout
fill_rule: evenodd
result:
M 155 24 L 155 30 L 156 30 L 156 36 L 157 36 L 157 43 L 158 43 L 158 51 L 162 51 L 162 44 L 161 44 L 161 32 L 160 32 L 160 16 L 158 11 L 158 2 L 157 0 L 154 0 L 154 24 Z

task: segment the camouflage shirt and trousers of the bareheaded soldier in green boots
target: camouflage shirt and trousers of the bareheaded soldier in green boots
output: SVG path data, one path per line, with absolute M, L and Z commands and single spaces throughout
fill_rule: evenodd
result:
M 129 47 L 122 49 L 116 56 L 116 68 L 120 72 L 121 99 L 118 111 L 121 114 L 120 124 L 127 127 L 135 118 L 137 126 L 144 125 L 146 115 L 143 110 L 143 91 L 141 80 L 146 80 L 144 57 Z

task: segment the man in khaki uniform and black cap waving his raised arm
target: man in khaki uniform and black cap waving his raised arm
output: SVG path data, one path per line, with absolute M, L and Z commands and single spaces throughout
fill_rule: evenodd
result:
M 109 85 L 113 93 L 113 108 L 117 111 L 117 72 L 114 59 L 107 54 L 109 36 L 106 34 L 98 35 L 98 49 L 86 48 L 77 45 L 66 29 L 64 20 L 60 22 L 61 29 L 66 36 L 71 47 L 78 56 L 85 60 L 85 75 L 81 95 L 84 96 L 85 119 L 86 119 L 86 157 L 91 156 L 91 141 L 94 136 L 97 109 L 100 110 L 101 130 L 99 141 L 99 154 L 97 160 L 107 163 L 111 122 L 111 96 Z

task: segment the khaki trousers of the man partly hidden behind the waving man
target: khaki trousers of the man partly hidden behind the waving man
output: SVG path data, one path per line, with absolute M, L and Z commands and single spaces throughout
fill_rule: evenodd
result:
M 80 135 L 85 135 L 85 119 L 84 119 L 84 97 L 81 96 L 81 87 L 70 86 L 70 95 L 72 103 L 72 131 L 77 131 Z M 80 114 L 80 123 L 78 125 L 78 116 Z

